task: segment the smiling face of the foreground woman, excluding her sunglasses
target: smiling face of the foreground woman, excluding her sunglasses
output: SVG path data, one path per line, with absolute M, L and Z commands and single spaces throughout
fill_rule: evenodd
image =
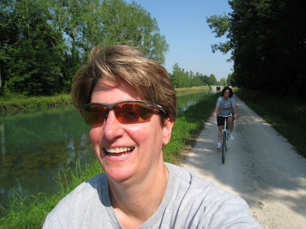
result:
M 97 83 L 91 96 L 91 102 L 107 104 L 131 99 L 143 98 L 133 94 L 126 83 L 118 85 L 106 79 Z M 103 124 L 91 125 L 91 144 L 109 179 L 143 182 L 163 166 L 162 145 L 170 140 L 173 120 L 167 119 L 162 126 L 158 114 L 155 109 L 145 122 L 122 124 L 110 109 Z

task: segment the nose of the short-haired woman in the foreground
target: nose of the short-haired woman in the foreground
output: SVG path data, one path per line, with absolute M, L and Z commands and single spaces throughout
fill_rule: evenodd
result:
M 108 140 L 113 140 L 122 136 L 124 133 L 122 126 L 123 124 L 117 120 L 115 112 L 109 110 L 103 125 L 103 136 Z

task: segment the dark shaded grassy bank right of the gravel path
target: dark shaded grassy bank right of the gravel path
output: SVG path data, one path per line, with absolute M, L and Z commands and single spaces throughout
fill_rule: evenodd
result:
M 298 154 L 306 157 L 305 101 L 290 97 L 271 97 L 250 90 L 235 90 L 235 94 L 253 111 L 269 123 L 278 133 L 282 134 L 294 146 Z

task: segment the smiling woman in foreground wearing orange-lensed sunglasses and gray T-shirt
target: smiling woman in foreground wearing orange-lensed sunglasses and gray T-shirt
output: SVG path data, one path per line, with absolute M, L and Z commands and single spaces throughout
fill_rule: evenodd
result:
M 64 197 L 43 228 L 261 227 L 243 199 L 163 161 L 176 97 L 158 62 L 128 46 L 95 47 L 72 98 L 104 173 Z

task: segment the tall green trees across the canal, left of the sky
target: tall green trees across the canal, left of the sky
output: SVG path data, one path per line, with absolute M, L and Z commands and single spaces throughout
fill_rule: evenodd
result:
M 122 0 L 1 0 L 0 87 L 5 96 L 68 93 L 98 44 L 139 47 L 165 62 L 157 20 Z

